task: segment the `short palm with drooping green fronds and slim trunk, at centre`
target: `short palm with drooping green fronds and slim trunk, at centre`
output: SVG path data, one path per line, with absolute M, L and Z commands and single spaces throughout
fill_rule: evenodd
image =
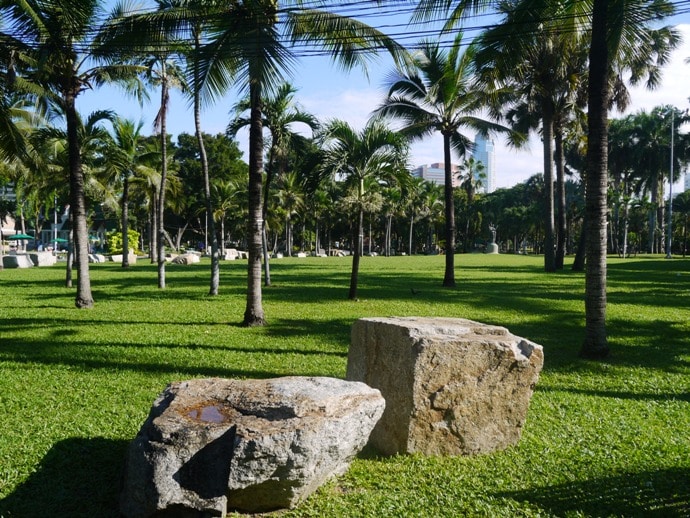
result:
M 364 241 L 366 182 L 371 179 L 377 182 L 404 182 L 409 176 L 405 170 L 408 146 L 400 133 L 376 118 L 371 119 L 361 131 L 356 131 L 344 121 L 330 121 L 325 125 L 321 138 L 325 170 L 334 178 L 344 178 L 356 192 L 357 242 L 353 250 L 348 294 L 350 300 L 355 300 Z

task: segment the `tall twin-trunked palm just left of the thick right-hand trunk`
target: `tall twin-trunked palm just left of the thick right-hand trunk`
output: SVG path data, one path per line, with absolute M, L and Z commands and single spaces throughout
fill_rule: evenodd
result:
M 563 266 L 564 219 L 559 217 L 559 256 L 555 249 L 554 140 L 559 215 L 565 212 L 563 126 L 582 103 L 585 30 L 578 23 L 586 2 L 549 1 L 535 9 L 531 0 L 501 4 L 500 24 L 480 37 L 477 59 L 484 81 L 507 84 L 515 93 L 509 119 L 523 130 L 541 122 L 545 183 L 544 269 Z M 519 30 L 515 30 L 519 27 Z

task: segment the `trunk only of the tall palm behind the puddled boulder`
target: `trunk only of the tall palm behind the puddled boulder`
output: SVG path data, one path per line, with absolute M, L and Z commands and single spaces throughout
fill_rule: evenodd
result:
M 253 78 L 250 79 L 249 97 L 251 115 L 249 124 L 249 214 L 247 217 L 247 306 L 244 312 L 244 325 L 262 326 L 266 324 L 261 305 L 261 228 L 263 211 L 261 200 L 263 169 L 263 135 L 261 124 L 261 88 Z

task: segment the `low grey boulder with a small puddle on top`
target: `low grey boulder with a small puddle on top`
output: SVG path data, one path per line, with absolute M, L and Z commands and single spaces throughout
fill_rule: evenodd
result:
M 199 379 L 169 385 L 131 443 L 127 517 L 291 508 L 344 473 L 385 402 L 334 378 Z

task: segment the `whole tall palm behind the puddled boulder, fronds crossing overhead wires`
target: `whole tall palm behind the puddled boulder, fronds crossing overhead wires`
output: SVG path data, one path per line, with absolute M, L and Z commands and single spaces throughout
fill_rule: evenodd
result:
M 241 1 L 212 20 L 206 84 L 224 92 L 239 80 L 250 100 L 247 305 L 244 324 L 265 323 L 261 303 L 263 132 L 262 99 L 284 82 L 297 59 L 295 44 L 319 45 L 347 68 L 365 65 L 378 49 L 402 49 L 363 22 L 326 8 L 289 9 L 277 0 Z M 281 32 L 282 31 L 282 32 Z

